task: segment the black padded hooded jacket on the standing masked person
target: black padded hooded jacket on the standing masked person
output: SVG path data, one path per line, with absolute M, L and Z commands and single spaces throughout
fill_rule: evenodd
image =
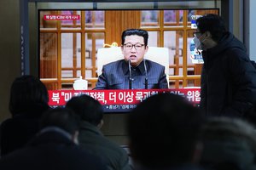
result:
M 201 110 L 207 116 L 251 114 L 256 100 L 256 69 L 244 45 L 227 32 L 202 56 Z

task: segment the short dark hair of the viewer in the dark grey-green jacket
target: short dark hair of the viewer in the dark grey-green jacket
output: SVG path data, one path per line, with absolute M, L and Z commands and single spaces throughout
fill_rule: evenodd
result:
M 90 122 L 96 126 L 102 121 L 102 105 L 89 95 L 83 94 L 73 97 L 67 101 L 66 107 L 78 114 L 82 121 Z

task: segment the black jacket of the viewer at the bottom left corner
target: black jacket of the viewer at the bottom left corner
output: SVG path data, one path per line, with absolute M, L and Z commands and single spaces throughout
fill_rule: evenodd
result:
M 39 134 L 21 150 L 0 159 L 1 170 L 106 170 L 102 161 L 57 132 Z

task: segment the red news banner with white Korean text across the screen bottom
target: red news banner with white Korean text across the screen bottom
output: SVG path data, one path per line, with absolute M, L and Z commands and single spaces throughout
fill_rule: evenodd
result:
M 200 88 L 137 89 L 137 90 L 49 90 L 49 105 L 66 105 L 73 96 L 90 95 L 97 99 L 105 112 L 131 111 L 139 102 L 160 93 L 178 94 L 194 105 L 200 103 Z

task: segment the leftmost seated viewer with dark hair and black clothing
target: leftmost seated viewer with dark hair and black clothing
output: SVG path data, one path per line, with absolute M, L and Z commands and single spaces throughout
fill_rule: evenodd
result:
M 1 124 L 1 155 L 23 147 L 39 130 L 39 118 L 49 109 L 48 91 L 38 77 L 17 77 L 10 89 L 12 115 Z

